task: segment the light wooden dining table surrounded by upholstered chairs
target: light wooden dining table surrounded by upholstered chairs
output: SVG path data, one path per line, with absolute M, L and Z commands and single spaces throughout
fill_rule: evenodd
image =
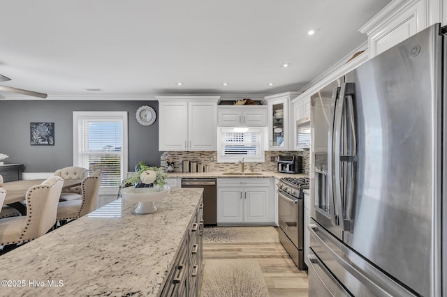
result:
M 20 211 L 22 215 L 27 214 L 27 207 L 24 206 L 21 201 L 27 196 L 27 191 L 34 185 L 40 185 L 45 179 L 27 179 L 24 181 L 10 181 L 9 183 L 3 183 L 3 189 L 6 190 L 6 197 L 3 204 L 13 206 Z M 64 179 L 64 185 L 62 190 L 76 187 L 82 183 L 80 179 Z

